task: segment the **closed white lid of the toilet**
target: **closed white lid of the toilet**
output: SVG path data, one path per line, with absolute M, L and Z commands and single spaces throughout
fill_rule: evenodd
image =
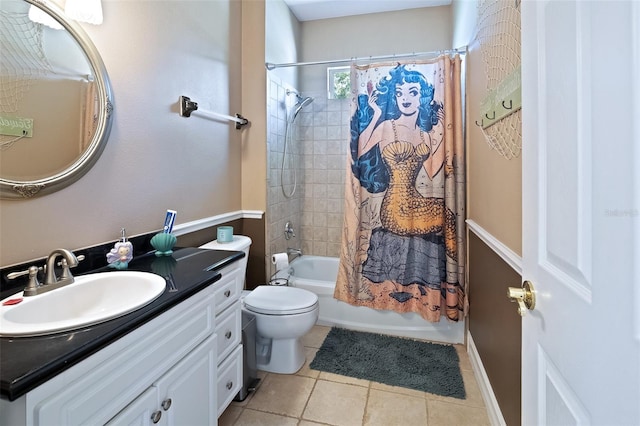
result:
M 244 305 L 259 314 L 302 314 L 318 305 L 318 296 L 301 288 L 261 285 L 244 298 Z

